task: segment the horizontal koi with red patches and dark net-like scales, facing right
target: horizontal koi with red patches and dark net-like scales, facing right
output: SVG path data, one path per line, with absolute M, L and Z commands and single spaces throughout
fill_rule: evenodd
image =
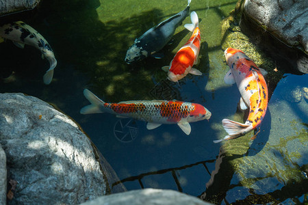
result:
M 107 103 L 85 89 L 84 96 L 91 102 L 80 110 L 81 114 L 112 113 L 119 118 L 134 118 L 148 122 L 152 130 L 162 124 L 177 124 L 186 135 L 190 135 L 190 122 L 209 119 L 211 113 L 202 105 L 177 100 L 140 100 Z

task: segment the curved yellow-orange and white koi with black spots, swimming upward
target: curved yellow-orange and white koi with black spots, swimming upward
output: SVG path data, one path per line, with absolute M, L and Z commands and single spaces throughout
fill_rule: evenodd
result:
M 224 76 L 224 82 L 227 84 L 236 82 L 242 96 L 240 107 L 243 110 L 249 107 L 249 115 L 244 124 L 223 119 L 222 125 L 229 135 L 214 143 L 235 139 L 252 131 L 261 124 L 268 108 L 268 86 L 263 77 L 267 74 L 266 70 L 258 68 L 243 51 L 238 49 L 228 48 L 224 51 L 224 55 L 230 67 Z

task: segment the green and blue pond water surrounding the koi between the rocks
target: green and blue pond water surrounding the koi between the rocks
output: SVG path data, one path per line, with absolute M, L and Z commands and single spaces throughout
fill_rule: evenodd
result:
M 307 74 L 290 82 L 294 90 L 300 87 L 302 97 L 297 102 L 279 104 L 283 86 L 290 87 L 281 84 L 255 141 L 250 141 L 253 133 L 249 133 L 227 143 L 213 143 L 226 135 L 222 119 L 244 121 L 244 113 L 237 111 L 238 87 L 223 81 L 229 68 L 221 47 L 220 23 L 235 4 L 231 0 L 192 0 L 190 11 L 198 14 L 202 42 L 196 68 L 203 75 L 188 74 L 173 83 L 161 68 L 170 64 L 190 38 L 190 31 L 183 27 L 190 23 L 189 17 L 177 28 L 172 44 L 162 50 L 163 59 L 148 58 L 130 65 L 124 59 L 135 38 L 183 10 L 187 1 L 44 0 L 37 11 L 12 18 L 28 23 L 51 44 L 58 62 L 53 81 L 42 83 L 49 63 L 40 58 L 39 51 L 5 42 L 0 44 L 1 74 L 6 77 L 12 70 L 14 74 L 1 81 L 0 92 L 36 96 L 70 115 L 127 190 L 174 189 L 216 204 L 307 202 Z M 108 113 L 81 115 L 81 107 L 89 104 L 82 94 L 85 88 L 105 102 L 177 99 L 199 103 L 212 115 L 209 121 L 192 123 L 189 136 L 177 125 L 149 131 L 145 122 Z M 283 118 L 277 115 L 280 106 L 285 106 Z M 287 147 L 282 139 L 291 145 Z M 112 182 L 113 192 L 118 183 Z

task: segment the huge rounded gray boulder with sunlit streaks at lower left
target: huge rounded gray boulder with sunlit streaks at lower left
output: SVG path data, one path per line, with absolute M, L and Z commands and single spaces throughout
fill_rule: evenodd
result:
M 105 195 L 90 140 L 47 102 L 0 94 L 0 143 L 8 180 L 18 182 L 10 204 L 80 204 Z

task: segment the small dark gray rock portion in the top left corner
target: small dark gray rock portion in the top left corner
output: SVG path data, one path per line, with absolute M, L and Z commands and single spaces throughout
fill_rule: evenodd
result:
M 31 10 L 40 0 L 0 0 L 0 16 L 23 10 Z

